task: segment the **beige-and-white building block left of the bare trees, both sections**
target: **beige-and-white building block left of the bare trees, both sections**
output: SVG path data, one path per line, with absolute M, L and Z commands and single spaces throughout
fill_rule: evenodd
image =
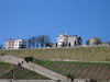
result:
M 6 49 L 20 49 L 23 47 L 23 39 L 8 39 L 6 43 L 4 43 L 4 48 Z

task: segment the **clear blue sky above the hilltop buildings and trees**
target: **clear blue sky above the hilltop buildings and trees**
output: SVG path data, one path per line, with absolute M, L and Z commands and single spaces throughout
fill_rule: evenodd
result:
M 0 0 L 0 44 L 59 33 L 110 42 L 110 0 Z

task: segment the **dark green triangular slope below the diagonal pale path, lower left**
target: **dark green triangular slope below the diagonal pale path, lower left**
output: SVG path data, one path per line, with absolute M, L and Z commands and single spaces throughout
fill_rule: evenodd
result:
M 0 79 L 12 79 L 13 74 L 11 70 L 13 70 L 14 79 L 48 80 L 34 71 L 6 62 L 0 62 Z

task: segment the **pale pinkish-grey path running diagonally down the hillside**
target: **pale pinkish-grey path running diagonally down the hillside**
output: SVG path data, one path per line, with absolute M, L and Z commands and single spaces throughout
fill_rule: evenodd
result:
M 14 63 L 14 65 L 22 63 L 22 61 L 23 61 L 22 67 L 28 68 L 30 70 L 33 70 L 33 71 L 35 71 L 35 72 L 37 72 L 40 74 L 43 74 L 43 75 L 45 75 L 45 77 L 47 77 L 50 79 L 53 79 L 53 80 L 67 80 L 66 77 L 64 77 L 64 75 L 62 75 L 59 73 L 56 73 L 56 72 L 54 72 L 52 70 L 48 70 L 48 69 L 46 69 L 44 67 L 41 67 L 41 66 L 38 66 L 36 63 L 33 63 L 33 62 L 29 62 L 28 63 L 22 58 L 4 55 L 4 56 L 0 56 L 0 61 Z

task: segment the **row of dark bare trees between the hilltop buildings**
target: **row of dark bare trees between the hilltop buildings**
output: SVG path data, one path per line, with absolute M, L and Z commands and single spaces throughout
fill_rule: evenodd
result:
M 33 36 L 28 39 L 24 39 L 24 47 L 25 48 L 40 48 L 40 47 L 46 47 L 46 44 L 51 42 L 48 35 L 38 35 Z

